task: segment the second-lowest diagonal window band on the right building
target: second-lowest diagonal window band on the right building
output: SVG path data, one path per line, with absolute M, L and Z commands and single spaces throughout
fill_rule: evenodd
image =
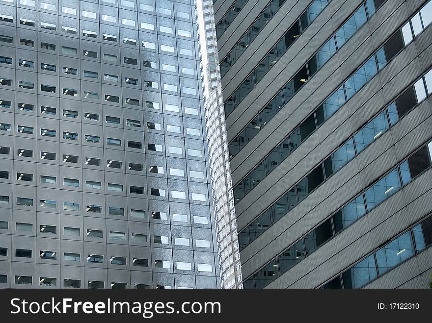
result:
M 297 262 L 301 261 L 314 250 L 324 245 L 336 234 L 356 222 L 378 204 L 399 191 L 402 187 L 405 187 L 412 178 L 430 168 L 431 149 L 431 143 L 429 143 L 429 148 L 428 145 L 422 147 L 404 162 L 397 165 L 389 173 L 378 179 L 378 181 L 373 183 L 369 188 L 365 189 L 359 196 L 352 199 L 351 202 L 339 211 L 327 218 L 323 223 L 319 224 L 316 228 L 307 233 L 302 239 L 287 248 L 280 256 L 273 259 L 272 262 L 281 260 L 281 264 L 278 267 L 279 273 L 282 274 L 286 272 L 292 266 L 296 265 Z M 251 230 L 256 228 L 257 231 L 260 231 L 260 226 L 265 226 L 266 220 L 270 219 L 263 218 L 261 224 L 258 224 L 256 227 L 250 227 Z M 253 234 L 254 232 L 249 233 Z M 247 242 L 247 237 L 245 235 L 240 237 L 239 234 L 240 244 L 243 243 L 243 238 L 246 238 Z M 255 274 L 255 278 L 258 276 L 260 277 L 259 279 L 262 279 L 262 277 L 265 276 L 264 271 L 268 270 L 268 267 L 269 265 L 266 265 L 258 271 L 258 273 Z M 264 279 L 271 281 L 276 278 L 277 275 L 278 273 Z M 262 286 L 263 285 L 260 285 L 260 287 Z

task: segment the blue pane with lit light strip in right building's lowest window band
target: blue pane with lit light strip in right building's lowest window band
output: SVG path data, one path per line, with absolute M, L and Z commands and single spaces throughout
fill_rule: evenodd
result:
M 399 238 L 380 248 L 377 252 L 378 273 L 382 275 L 414 254 L 411 232 L 406 231 Z

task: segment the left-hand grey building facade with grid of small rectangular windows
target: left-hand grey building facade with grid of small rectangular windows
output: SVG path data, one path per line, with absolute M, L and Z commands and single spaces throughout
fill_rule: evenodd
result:
M 220 287 L 195 1 L 0 9 L 0 287 Z

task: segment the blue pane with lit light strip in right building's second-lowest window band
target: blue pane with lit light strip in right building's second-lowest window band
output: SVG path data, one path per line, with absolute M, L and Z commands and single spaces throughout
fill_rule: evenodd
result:
M 389 174 L 378 180 L 376 184 L 365 192 L 366 206 L 368 210 L 387 199 L 401 188 L 398 169 L 394 169 Z

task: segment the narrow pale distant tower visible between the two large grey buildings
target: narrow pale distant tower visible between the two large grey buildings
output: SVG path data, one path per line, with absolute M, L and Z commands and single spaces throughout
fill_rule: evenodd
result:
M 206 105 L 207 124 L 213 172 L 221 276 L 224 288 L 243 288 L 234 195 L 226 141 L 222 88 L 220 86 L 213 0 L 203 1 L 203 17 L 208 58 L 207 81 L 209 96 Z

